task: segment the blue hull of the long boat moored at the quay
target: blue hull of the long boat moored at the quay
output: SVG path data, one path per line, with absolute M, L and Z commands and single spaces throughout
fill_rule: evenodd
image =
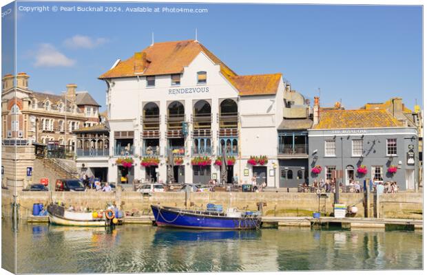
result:
M 260 228 L 260 217 L 214 217 L 208 214 L 196 214 L 181 211 L 178 208 L 152 206 L 156 225 L 174 228 L 206 230 L 253 230 Z

